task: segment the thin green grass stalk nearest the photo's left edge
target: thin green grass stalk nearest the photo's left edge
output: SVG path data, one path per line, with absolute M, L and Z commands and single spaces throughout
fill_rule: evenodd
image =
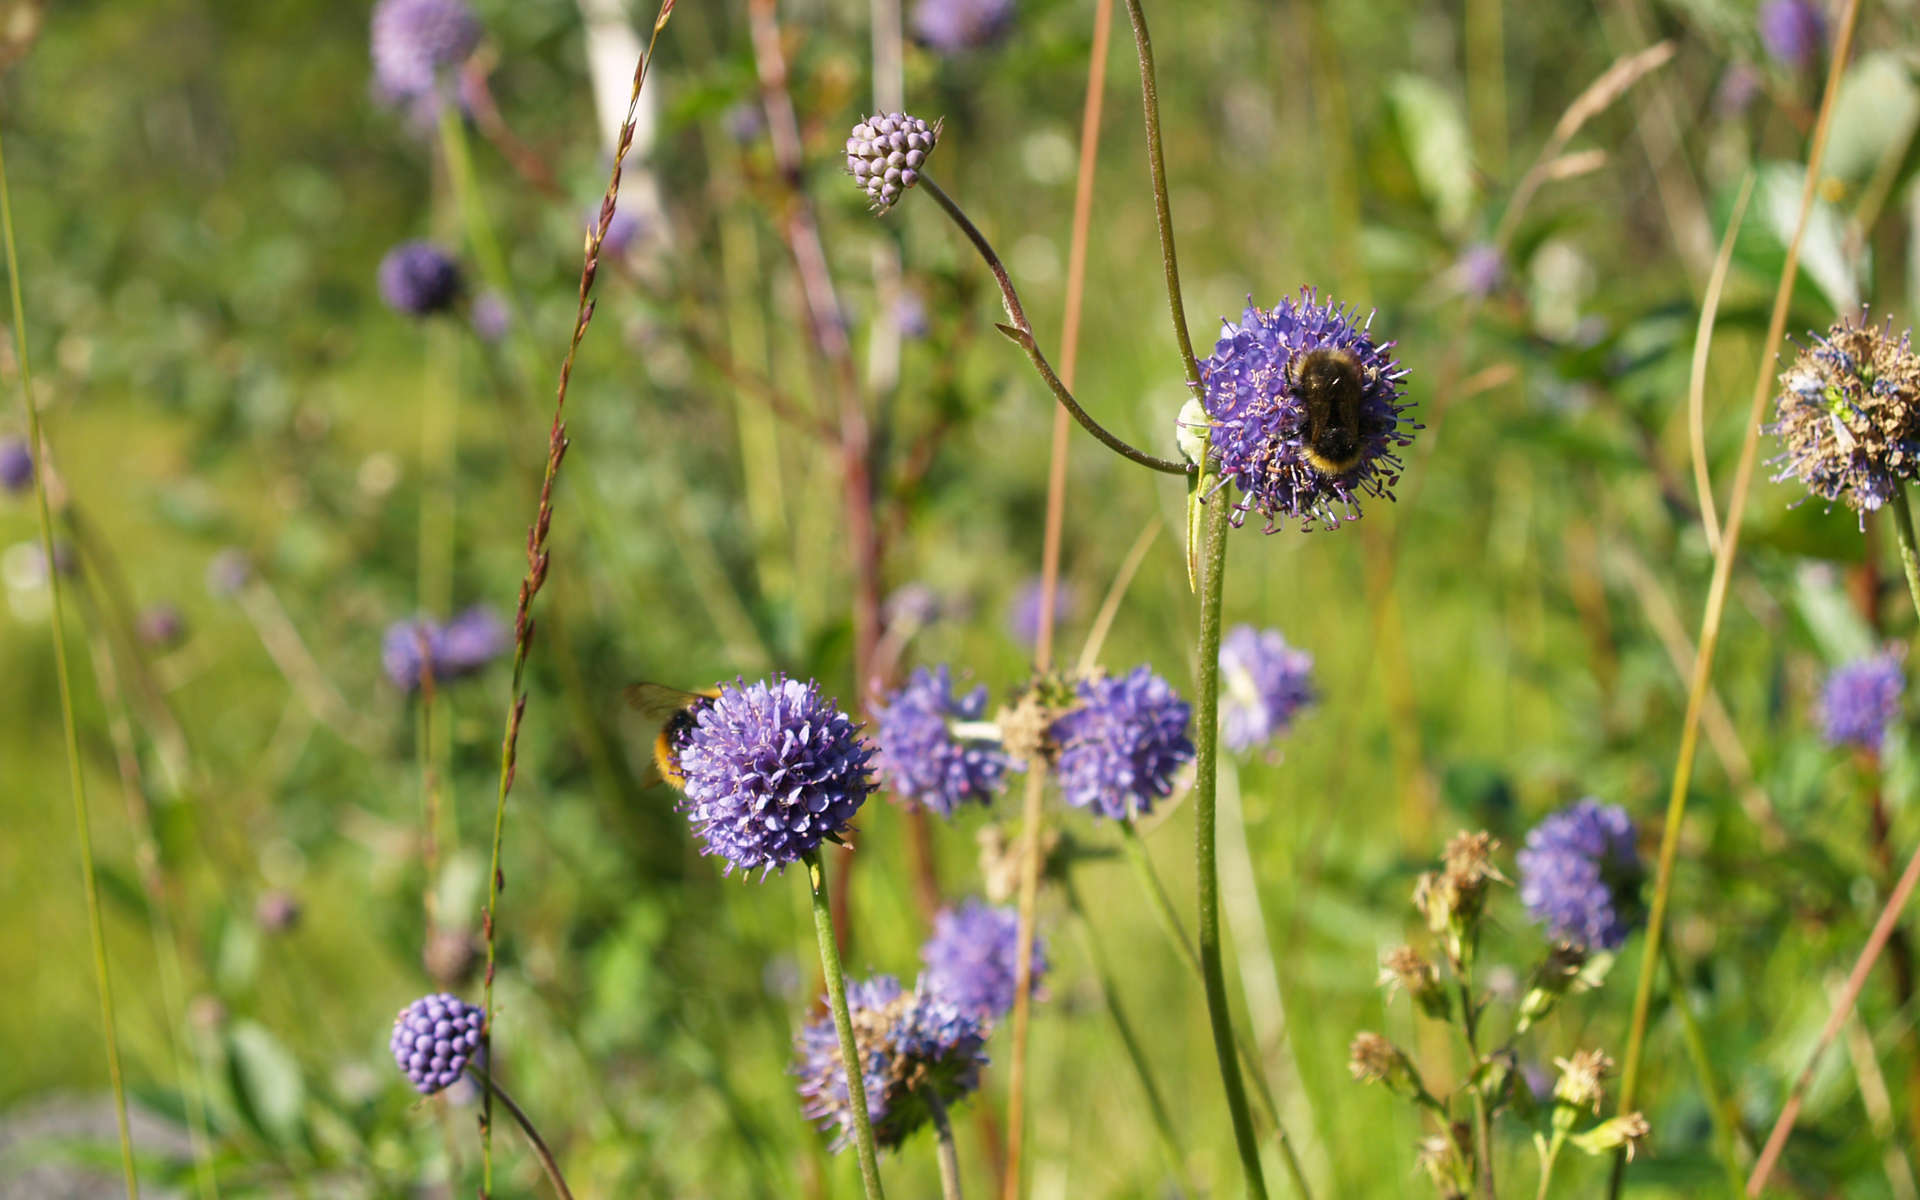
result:
M 0 150 L 0 228 L 6 232 L 6 275 L 13 303 L 13 353 L 19 357 L 19 399 L 27 409 L 27 442 L 33 447 L 33 505 L 40 518 L 40 555 L 46 563 L 46 593 L 52 605 L 54 676 L 60 680 L 60 720 L 67 747 L 67 787 L 73 793 L 73 822 L 81 845 L 81 889 L 86 895 L 86 937 L 94 956 L 94 989 L 100 993 L 100 1031 L 108 1050 L 108 1081 L 113 1085 L 113 1121 L 119 1127 L 121 1173 L 127 1196 L 140 1194 L 132 1169 L 132 1133 L 127 1127 L 127 1085 L 121 1079 L 119 1033 L 113 1021 L 113 979 L 108 973 L 108 937 L 100 920 L 100 883 L 94 874 L 94 833 L 86 812 L 86 778 L 81 770 L 81 732 L 73 716 L 73 680 L 67 670 L 65 599 L 60 568 L 54 566 L 54 513 L 46 501 L 46 430 L 33 401 L 33 369 L 27 361 L 27 303 L 19 288 L 19 250 L 13 242 L 13 196 L 6 179 L 6 152 Z

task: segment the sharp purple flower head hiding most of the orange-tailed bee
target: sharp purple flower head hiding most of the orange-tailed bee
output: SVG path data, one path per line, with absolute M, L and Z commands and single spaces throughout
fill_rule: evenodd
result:
M 776 674 L 724 684 L 676 743 L 682 810 L 726 858 L 726 872 L 768 872 L 837 839 L 874 789 L 874 747 L 812 680 Z

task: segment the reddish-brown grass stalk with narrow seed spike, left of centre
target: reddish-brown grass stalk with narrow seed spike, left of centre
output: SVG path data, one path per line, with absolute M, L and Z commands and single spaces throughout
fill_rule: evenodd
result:
M 493 849 L 486 877 L 486 912 L 480 918 L 486 935 L 486 977 L 482 985 L 484 1029 L 482 1043 L 492 1048 L 493 1039 L 493 972 L 497 966 L 497 908 L 499 891 L 505 877 L 499 870 L 499 847 L 507 828 L 507 793 L 513 791 L 515 755 L 520 745 L 520 720 L 526 716 L 526 655 L 534 645 L 532 603 L 547 580 L 547 532 L 553 524 L 553 480 L 561 472 L 561 459 L 566 457 L 566 384 L 574 374 L 574 357 L 586 338 L 588 323 L 593 321 L 593 278 L 599 275 L 599 252 L 607 240 L 607 227 L 612 225 L 614 204 L 620 198 L 620 167 L 626 152 L 634 144 L 634 115 L 639 108 L 639 88 L 647 81 L 647 63 L 653 61 L 653 48 L 660 40 L 660 31 L 674 15 L 674 0 L 662 0 L 653 17 L 653 35 L 647 50 L 634 63 L 634 90 L 626 102 L 626 121 L 620 125 L 620 140 L 614 146 L 612 169 L 607 177 L 607 194 L 601 200 L 599 223 L 588 236 L 586 261 L 580 267 L 580 301 L 574 309 L 574 332 L 566 344 L 566 357 L 561 361 L 561 378 L 553 396 L 553 424 L 547 428 L 547 468 L 540 482 L 540 501 L 534 509 L 534 524 L 526 530 L 526 574 L 520 578 L 520 595 L 513 618 L 513 684 L 507 695 L 507 728 L 499 743 L 499 789 L 493 797 Z M 490 1058 L 492 1062 L 492 1058 Z M 488 1089 L 480 1106 L 480 1154 L 482 1154 L 482 1196 L 493 1192 L 493 1089 Z

